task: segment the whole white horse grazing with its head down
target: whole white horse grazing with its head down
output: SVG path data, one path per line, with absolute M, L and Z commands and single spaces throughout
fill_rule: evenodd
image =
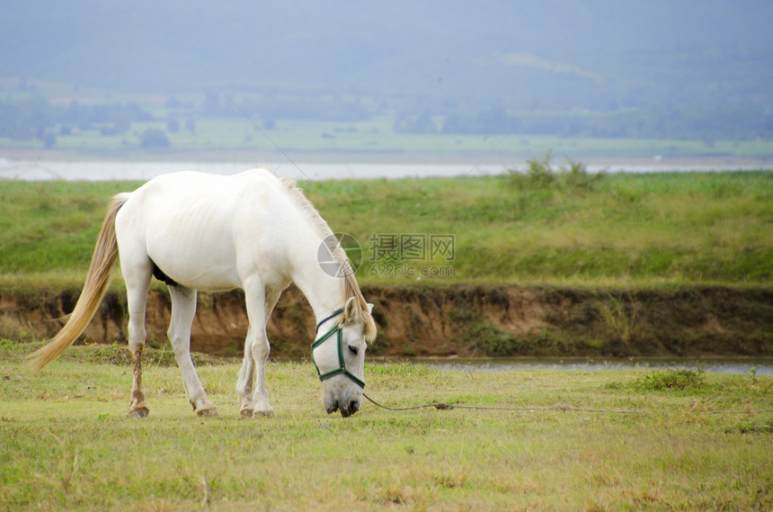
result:
M 141 357 L 151 275 L 169 287 L 168 336 L 188 399 L 200 416 L 218 412 L 191 361 L 197 290 L 244 290 L 250 327 L 236 382 L 239 407 L 244 418 L 271 416 L 265 384 L 270 350 L 266 322 L 292 282 L 311 304 L 317 331 L 325 328 L 326 334 L 312 345 L 324 409 L 340 410 L 348 417 L 360 409 L 365 348 L 376 336 L 376 324 L 370 315 L 372 305 L 363 298 L 334 241 L 331 229 L 295 183 L 265 169 L 233 176 L 193 172 L 158 176 L 113 198 L 76 308 L 57 336 L 30 355 L 32 366 L 40 370 L 83 333 L 120 256 L 134 373 L 129 416 L 148 414 Z M 336 272 L 330 271 L 331 261 L 338 264 Z

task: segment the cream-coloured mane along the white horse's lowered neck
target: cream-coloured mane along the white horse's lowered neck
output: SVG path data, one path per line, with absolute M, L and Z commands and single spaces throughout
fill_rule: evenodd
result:
M 298 188 L 296 181 L 281 176 L 277 177 L 280 179 L 280 182 L 284 187 L 285 192 L 288 193 L 289 197 L 294 202 L 296 202 L 296 204 L 298 204 L 298 207 L 301 209 L 301 211 L 304 211 L 307 214 L 308 219 L 311 220 L 312 225 L 316 229 L 316 232 L 320 238 L 324 239 L 327 237 L 332 237 L 333 229 L 330 229 L 330 226 L 328 226 L 327 222 L 324 221 L 322 216 L 319 214 L 319 211 L 316 211 L 314 205 L 307 199 L 303 191 Z M 365 300 L 365 297 L 360 291 L 360 285 L 357 283 L 357 279 L 354 277 L 354 270 L 351 268 L 349 258 L 346 257 L 346 253 L 343 252 L 340 244 L 337 245 L 335 249 L 333 249 L 333 258 L 335 259 L 336 263 L 342 265 L 343 267 L 343 296 L 347 299 L 349 297 L 357 298 L 355 303 L 357 304 L 357 310 L 360 315 L 360 319 L 362 319 L 362 334 L 364 335 L 365 339 L 371 343 L 374 339 L 376 339 L 376 322 L 373 320 L 373 317 L 368 311 L 368 301 Z

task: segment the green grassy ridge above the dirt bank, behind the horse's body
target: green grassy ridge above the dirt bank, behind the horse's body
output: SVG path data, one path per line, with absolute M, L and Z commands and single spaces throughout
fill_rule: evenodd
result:
M 82 279 L 112 193 L 137 183 L 0 183 L 5 283 Z M 360 241 L 362 283 L 753 283 L 773 280 L 773 172 L 540 174 L 301 184 L 334 231 Z M 374 234 L 377 237 L 374 238 Z M 424 237 L 421 258 L 378 254 Z M 431 235 L 453 257 L 429 255 Z M 399 239 L 399 238 L 395 238 Z M 381 251 L 384 252 L 384 251 Z M 15 277 L 13 277 L 15 276 Z M 37 277 L 36 277 L 37 276 Z M 433 275 L 426 277 L 432 278 Z M 426 282 L 426 280 L 425 280 Z

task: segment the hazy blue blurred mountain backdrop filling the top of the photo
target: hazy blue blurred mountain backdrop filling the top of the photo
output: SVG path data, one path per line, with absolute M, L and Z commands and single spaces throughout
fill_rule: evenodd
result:
M 449 115 L 773 110 L 773 3 L 6 2 L 0 76 Z M 375 105 L 375 107 L 373 106 Z

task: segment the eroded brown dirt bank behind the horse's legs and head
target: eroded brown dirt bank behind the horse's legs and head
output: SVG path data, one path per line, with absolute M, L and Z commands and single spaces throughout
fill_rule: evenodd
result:
M 371 355 L 773 355 L 773 290 L 694 287 L 674 291 L 535 287 L 366 287 L 378 339 Z M 45 339 L 78 291 L 0 291 L 0 337 Z M 151 292 L 147 333 L 165 337 L 166 292 Z M 271 316 L 272 355 L 308 355 L 311 308 L 294 288 Z M 247 317 L 243 292 L 202 293 L 192 349 L 238 355 Z M 126 303 L 109 293 L 83 341 L 126 338 Z

